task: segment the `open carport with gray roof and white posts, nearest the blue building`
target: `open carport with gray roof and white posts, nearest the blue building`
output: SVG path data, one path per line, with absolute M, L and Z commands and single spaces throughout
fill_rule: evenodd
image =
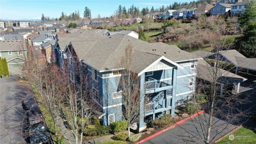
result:
M 204 81 L 211 83 L 213 82 L 213 78 L 214 78 L 213 71 L 214 71 L 214 67 L 209 65 L 205 60 L 198 60 L 197 78 L 203 79 Z M 220 96 L 223 95 L 223 87 L 225 85 L 237 83 L 236 92 L 238 93 L 240 88 L 240 83 L 247 80 L 242 76 L 238 76 L 224 69 L 219 69 L 217 76 L 219 77 L 218 84 L 221 85 Z

